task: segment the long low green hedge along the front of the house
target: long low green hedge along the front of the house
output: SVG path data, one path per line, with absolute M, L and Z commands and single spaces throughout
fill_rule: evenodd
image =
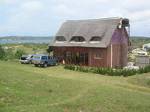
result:
M 112 69 L 112 68 L 99 68 L 99 67 L 85 67 L 85 66 L 75 66 L 75 65 L 65 65 L 65 69 L 86 72 L 86 73 L 96 73 L 109 76 L 132 76 L 136 74 L 148 73 L 150 72 L 150 66 L 140 68 L 139 70 L 129 70 L 129 69 Z

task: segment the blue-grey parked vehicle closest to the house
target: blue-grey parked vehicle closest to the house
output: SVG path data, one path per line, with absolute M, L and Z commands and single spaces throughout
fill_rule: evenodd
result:
M 33 57 L 32 62 L 35 66 L 42 66 L 42 67 L 57 64 L 57 60 L 55 57 L 44 54 L 35 55 Z

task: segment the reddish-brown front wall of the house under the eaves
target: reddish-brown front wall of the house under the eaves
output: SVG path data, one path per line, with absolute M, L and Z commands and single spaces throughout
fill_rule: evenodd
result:
M 88 66 L 107 67 L 106 48 L 54 47 L 54 56 L 64 59 L 64 53 L 67 51 L 88 53 Z M 95 58 L 96 54 L 100 54 L 101 58 Z

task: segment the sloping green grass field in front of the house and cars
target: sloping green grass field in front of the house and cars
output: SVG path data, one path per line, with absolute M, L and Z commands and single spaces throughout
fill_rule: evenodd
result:
M 0 61 L 0 112 L 150 112 L 150 74 L 110 77 Z

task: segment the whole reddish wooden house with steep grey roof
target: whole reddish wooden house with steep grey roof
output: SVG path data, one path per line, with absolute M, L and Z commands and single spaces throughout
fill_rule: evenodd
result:
M 107 18 L 66 21 L 50 44 L 66 64 L 124 67 L 127 65 L 129 20 Z

